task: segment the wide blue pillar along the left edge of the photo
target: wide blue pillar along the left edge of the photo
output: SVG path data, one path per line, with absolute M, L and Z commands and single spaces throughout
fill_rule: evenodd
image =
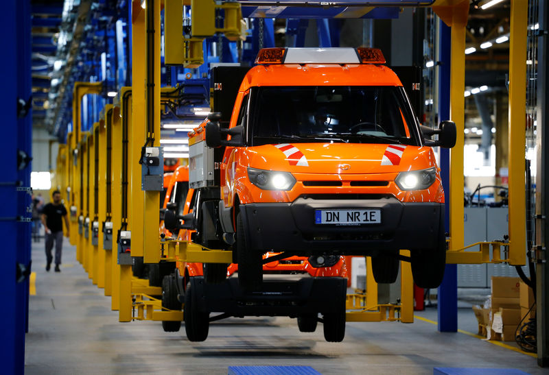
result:
M 30 114 L 18 119 L 17 103 L 30 98 L 30 1 L 3 2 L 0 32 L 5 56 L 0 60 L 0 112 L 2 114 L 3 160 L 0 164 L 0 238 L 2 261 L 0 285 L 4 306 L 0 309 L 0 361 L 5 374 L 23 374 L 25 330 L 27 326 L 28 280 L 17 282 L 19 264 L 29 266 L 30 223 L 17 217 L 30 217 L 30 196 L 18 187 L 30 186 L 30 166 L 18 170 L 19 150 L 31 154 Z

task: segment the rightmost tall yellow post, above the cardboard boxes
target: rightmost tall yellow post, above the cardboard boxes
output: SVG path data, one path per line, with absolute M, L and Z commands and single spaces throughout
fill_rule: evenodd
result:
M 528 1 L 511 1 L 509 29 L 509 264 L 526 263 L 526 41 Z M 529 171 L 527 173 L 530 173 Z M 528 219 L 531 219 L 528 217 Z

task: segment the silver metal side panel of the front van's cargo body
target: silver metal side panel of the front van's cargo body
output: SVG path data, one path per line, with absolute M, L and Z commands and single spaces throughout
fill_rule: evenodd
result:
M 202 132 L 203 134 L 204 132 Z M 213 148 L 206 141 L 189 141 L 189 187 L 198 189 L 215 185 L 215 160 Z

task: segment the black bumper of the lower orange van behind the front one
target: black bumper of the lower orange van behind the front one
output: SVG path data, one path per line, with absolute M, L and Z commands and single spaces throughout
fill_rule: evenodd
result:
M 346 278 L 267 280 L 260 291 L 244 293 L 237 278 L 211 285 L 202 276 L 191 278 L 198 309 L 205 313 L 227 313 L 233 317 L 288 316 L 337 313 L 347 293 Z

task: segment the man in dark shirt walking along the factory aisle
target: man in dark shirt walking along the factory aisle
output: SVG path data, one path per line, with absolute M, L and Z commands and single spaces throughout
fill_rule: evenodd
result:
M 61 203 L 61 193 L 56 190 L 51 195 L 54 199 L 53 203 L 48 203 L 42 210 L 42 223 L 46 230 L 46 271 L 51 267 L 51 249 L 56 242 L 56 272 L 60 272 L 59 265 L 61 264 L 61 251 L 63 245 L 63 223 L 61 217 L 65 218 L 65 226 L 67 227 L 67 236 L 69 235 L 69 219 L 67 218 L 67 210 Z

